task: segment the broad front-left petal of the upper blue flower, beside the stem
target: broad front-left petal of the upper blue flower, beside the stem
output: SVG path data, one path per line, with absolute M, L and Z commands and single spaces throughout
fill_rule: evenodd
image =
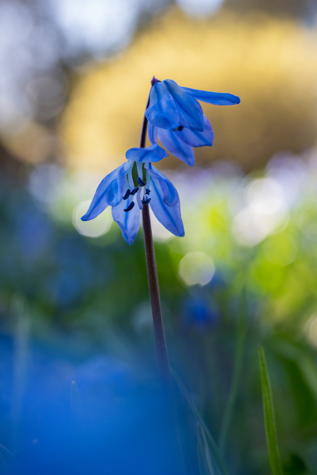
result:
M 145 111 L 145 117 L 150 123 L 163 129 L 176 129 L 180 124 L 173 97 L 161 82 L 156 82 L 152 86 L 150 104 Z

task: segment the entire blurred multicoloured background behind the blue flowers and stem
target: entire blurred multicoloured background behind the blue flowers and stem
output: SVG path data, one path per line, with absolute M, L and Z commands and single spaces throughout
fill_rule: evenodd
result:
M 30 474 L 174 473 L 142 229 L 80 220 L 155 75 L 241 99 L 202 104 L 193 168 L 158 164 L 185 228 L 152 215 L 171 365 L 216 441 L 236 368 L 222 452 L 267 474 L 262 343 L 284 473 L 317 474 L 317 1 L 0 0 L 0 70 L 0 444 Z

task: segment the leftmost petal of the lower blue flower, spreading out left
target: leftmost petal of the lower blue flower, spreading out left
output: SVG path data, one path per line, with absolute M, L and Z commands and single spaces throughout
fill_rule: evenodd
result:
M 88 211 L 81 217 L 82 221 L 89 221 L 102 213 L 108 205 L 115 206 L 122 199 L 125 179 L 125 163 L 109 173 L 99 184 Z

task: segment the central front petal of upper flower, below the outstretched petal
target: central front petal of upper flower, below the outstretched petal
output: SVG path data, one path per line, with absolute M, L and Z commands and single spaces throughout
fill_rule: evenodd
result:
M 202 132 L 204 128 L 204 122 L 202 106 L 199 104 L 199 102 L 197 102 L 191 94 L 188 94 L 188 92 L 184 91 L 183 87 L 180 87 L 175 83 L 175 81 L 172 81 L 172 79 L 166 79 L 163 81 L 163 84 L 173 96 L 174 103 L 179 114 L 179 125 L 183 125 L 183 127 L 186 127 L 187 129 Z M 162 128 L 173 129 L 176 127 Z

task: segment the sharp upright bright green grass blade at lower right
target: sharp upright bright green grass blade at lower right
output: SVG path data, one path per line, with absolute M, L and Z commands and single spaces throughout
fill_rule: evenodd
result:
M 269 461 L 272 475 L 283 475 L 282 464 L 279 458 L 278 437 L 276 433 L 275 415 L 269 372 L 265 361 L 263 347 L 258 345 L 259 365 L 261 374 L 262 400 L 264 412 L 265 434 L 269 451 Z

